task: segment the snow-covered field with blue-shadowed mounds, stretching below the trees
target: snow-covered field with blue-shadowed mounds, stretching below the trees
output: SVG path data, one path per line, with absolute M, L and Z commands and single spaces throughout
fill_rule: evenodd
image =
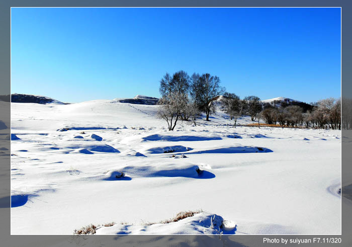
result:
M 339 130 L 232 128 L 218 112 L 167 131 L 156 109 L 12 103 L 11 233 L 216 234 L 216 215 L 229 234 L 340 234 Z M 204 213 L 148 224 L 189 210 Z

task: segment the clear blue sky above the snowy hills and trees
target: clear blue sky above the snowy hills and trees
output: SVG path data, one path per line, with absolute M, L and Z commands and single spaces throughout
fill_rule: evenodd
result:
M 241 98 L 338 98 L 340 35 L 340 8 L 12 8 L 11 93 L 159 97 L 183 69 Z

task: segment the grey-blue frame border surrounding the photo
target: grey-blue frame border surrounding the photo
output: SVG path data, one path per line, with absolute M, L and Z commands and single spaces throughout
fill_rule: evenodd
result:
M 2 77 L 2 83 L 0 84 L 1 93 L 0 95 L 10 94 L 10 80 L 11 80 L 11 19 L 10 19 L 10 8 L 11 7 L 341 7 L 341 95 L 342 97 L 352 99 L 352 86 L 348 83 L 348 80 L 352 77 L 351 67 L 351 53 L 352 48 L 348 47 L 352 42 L 350 33 L 350 27 L 352 26 L 352 3 L 348 0 L 337 0 L 337 1 L 322 1 L 322 0 L 297 0 L 297 1 L 280 1 L 280 0 L 242 0 L 242 1 L 197 1 L 181 0 L 178 2 L 165 2 L 160 0 L 152 1 L 108 1 L 103 0 L 100 2 L 91 0 L 79 0 L 69 1 L 63 0 L 55 2 L 52 0 L 38 0 L 28 2 L 26 0 L 3 0 L 1 5 L 1 33 L 2 38 L 0 39 L 0 74 Z M 343 54 L 342 54 L 343 51 Z M 343 90 L 342 90 L 343 89 Z M 8 111 L 7 111 L 8 110 Z M 9 109 L 4 109 L 3 112 L 10 115 L 10 104 Z M 0 120 L 3 118 L 9 118 L 10 116 L 0 116 Z M 8 130 L 10 134 L 10 129 Z M 342 136 L 352 136 L 350 130 L 342 130 Z M 343 138 L 342 138 L 343 139 Z M 0 139 L 3 143 L 6 143 L 10 149 L 10 140 Z M 3 144 L 2 143 L 2 144 Z M 342 141 L 342 185 L 352 184 L 352 169 L 349 163 L 352 158 L 352 152 L 350 152 L 350 144 Z M 350 154 L 351 153 L 351 154 Z M 193 235 L 181 235 L 181 236 L 11 236 L 10 235 L 10 208 L 2 207 L 6 205 L 7 196 L 10 196 L 10 153 L 7 155 L 0 156 L 0 217 L 2 224 L 0 224 L 1 241 L 4 246 L 129 246 L 132 245 L 145 245 L 145 246 L 272 246 L 281 244 L 265 244 L 263 243 L 263 237 L 261 235 L 234 235 L 234 236 L 193 236 Z M 343 194 L 343 190 L 342 190 Z M 10 198 L 10 197 L 9 197 Z M 2 201 L 3 199 L 3 201 Z M 352 203 L 348 199 L 342 197 L 342 242 L 339 246 L 352 246 L 352 236 L 349 234 L 349 230 L 352 229 L 352 219 L 349 216 L 351 212 L 345 212 L 343 209 L 344 203 Z M 328 226 L 322 226 L 328 227 Z M 316 237 L 314 235 L 269 235 L 269 238 L 310 238 Z M 322 236 L 317 236 L 322 237 Z M 336 235 L 325 236 L 325 237 L 336 237 Z M 133 244 L 134 243 L 134 244 Z M 287 244 L 290 246 L 296 244 Z M 310 246 L 313 244 L 299 244 L 299 246 Z M 330 246 L 329 244 L 319 244 L 323 246 Z

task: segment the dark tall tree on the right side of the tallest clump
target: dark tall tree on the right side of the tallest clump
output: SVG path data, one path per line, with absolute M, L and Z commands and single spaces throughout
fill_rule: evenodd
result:
M 224 89 L 220 87 L 220 78 L 210 75 L 209 73 L 192 75 L 191 95 L 195 97 L 195 101 L 199 109 L 205 111 L 206 121 L 209 121 L 209 115 L 212 111 L 212 103 L 214 98 L 221 95 Z

